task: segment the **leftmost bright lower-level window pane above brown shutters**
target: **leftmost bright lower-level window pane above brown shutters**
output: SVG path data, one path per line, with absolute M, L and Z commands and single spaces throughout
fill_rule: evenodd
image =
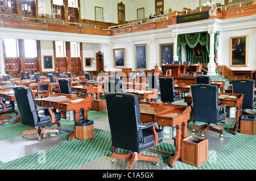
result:
M 16 39 L 5 39 L 5 57 L 19 57 L 19 44 Z

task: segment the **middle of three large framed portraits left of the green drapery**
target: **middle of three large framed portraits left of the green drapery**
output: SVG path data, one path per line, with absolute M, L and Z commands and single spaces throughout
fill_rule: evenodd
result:
M 135 45 L 135 66 L 137 70 L 147 69 L 147 44 Z

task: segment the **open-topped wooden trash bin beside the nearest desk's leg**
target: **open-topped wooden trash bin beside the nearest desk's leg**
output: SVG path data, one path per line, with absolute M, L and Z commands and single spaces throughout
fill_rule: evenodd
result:
M 181 140 L 181 162 L 199 167 L 208 161 L 208 139 L 189 136 Z

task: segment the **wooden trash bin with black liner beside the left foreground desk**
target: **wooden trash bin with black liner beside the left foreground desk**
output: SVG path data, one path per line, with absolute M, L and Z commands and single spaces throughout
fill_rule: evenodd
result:
M 75 123 L 76 138 L 81 141 L 94 138 L 94 124 L 93 121 L 82 120 Z

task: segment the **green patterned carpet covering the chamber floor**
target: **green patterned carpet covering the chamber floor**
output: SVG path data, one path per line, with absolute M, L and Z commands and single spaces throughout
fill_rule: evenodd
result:
M 182 100 L 176 102 L 184 104 Z M 106 111 L 97 112 L 89 111 L 88 119 L 96 120 L 106 117 Z M 14 118 L 10 120 L 14 121 Z M 74 122 L 61 119 L 61 128 L 73 130 Z M 189 127 L 191 123 L 189 123 Z M 52 128 L 55 128 L 53 125 Z M 233 128 L 233 125 L 225 124 L 225 128 Z M 21 136 L 22 131 L 33 129 L 21 123 L 6 124 L 0 127 L 0 141 L 8 138 Z M 68 133 L 60 132 L 59 136 L 67 138 Z M 218 153 L 209 150 L 208 162 L 200 167 L 193 167 L 178 160 L 175 168 L 166 166 L 164 170 L 218 170 L 218 169 L 256 169 L 256 136 L 226 132 L 225 136 L 231 137 L 228 144 Z M 108 131 L 94 129 L 94 138 L 87 141 L 80 141 L 72 138 L 71 141 L 63 141 L 62 145 L 55 146 L 45 151 L 46 163 L 40 164 L 42 158 L 41 153 L 28 155 L 7 163 L 0 162 L 0 170 L 73 170 L 103 155 L 110 157 L 112 152 L 111 135 Z M 154 149 L 175 153 L 175 145 L 160 143 Z M 127 153 L 126 150 L 117 149 L 117 153 Z M 156 155 L 143 151 L 146 155 Z M 160 158 L 160 162 L 164 162 L 167 158 L 162 155 L 156 155 Z

